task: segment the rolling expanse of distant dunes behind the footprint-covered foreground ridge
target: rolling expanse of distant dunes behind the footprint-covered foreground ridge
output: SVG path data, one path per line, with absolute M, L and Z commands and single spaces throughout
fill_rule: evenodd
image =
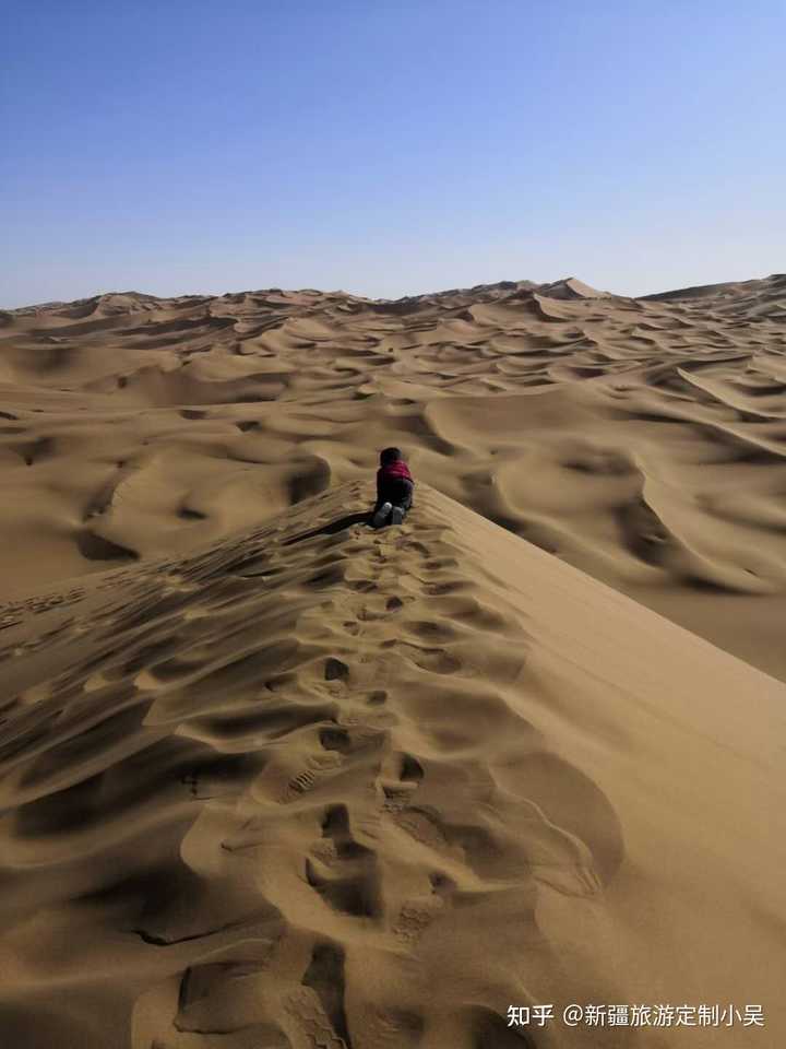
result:
M 372 469 L 416 475 L 786 677 L 786 276 L 373 302 L 129 293 L 0 314 L 0 570 L 196 549 Z

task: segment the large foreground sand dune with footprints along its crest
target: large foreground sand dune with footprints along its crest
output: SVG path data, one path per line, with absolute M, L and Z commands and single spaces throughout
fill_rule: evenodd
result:
M 781 1044 L 786 688 L 369 494 L 3 606 L 2 1044 Z M 507 1026 L 570 1002 L 766 1030 Z

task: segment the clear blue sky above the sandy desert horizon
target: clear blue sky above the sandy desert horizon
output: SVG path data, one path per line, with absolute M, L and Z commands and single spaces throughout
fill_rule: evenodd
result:
M 786 270 L 784 0 L 7 0 L 0 306 Z

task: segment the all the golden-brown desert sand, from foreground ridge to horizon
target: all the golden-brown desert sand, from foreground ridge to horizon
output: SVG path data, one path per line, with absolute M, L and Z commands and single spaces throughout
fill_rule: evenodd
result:
M 1 314 L 2 1045 L 782 1045 L 785 319 L 786 276 Z

